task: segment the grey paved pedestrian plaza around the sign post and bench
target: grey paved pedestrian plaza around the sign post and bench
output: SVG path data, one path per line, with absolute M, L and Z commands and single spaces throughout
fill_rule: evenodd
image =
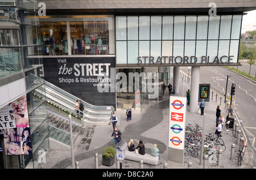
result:
M 184 88 L 186 89 L 186 88 Z M 181 96 L 181 93 L 172 95 Z M 214 134 L 216 127 L 216 108 L 218 102 L 210 99 L 210 102 L 205 103 L 205 135 L 212 133 Z M 221 114 L 226 117 L 226 110 L 224 105 L 221 106 Z M 117 110 L 115 114 L 118 117 L 118 129 L 122 132 L 122 140 L 129 142 L 130 139 L 134 139 L 135 145 L 138 145 L 139 140 L 143 140 L 146 147 L 146 153 L 150 153 L 150 148 L 153 144 L 158 144 L 160 150 L 159 164 L 156 166 L 143 164 L 143 169 L 163 169 L 163 165 L 168 160 L 168 119 L 169 119 L 169 96 L 168 92 L 163 96 L 163 100 L 159 102 L 150 102 L 147 108 L 140 112 L 140 110 L 133 110 L 132 120 L 126 121 L 126 110 Z M 203 116 L 199 113 L 189 112 L 189 106 L 187 106 L 187 123 L 197 123 L 201 127 L 203 126 Z M 94 169 L 94 155 L 98 153 L 98 168 L 99 169 L 115 169 L 116 163 L 112 166 L 102 165 L 102 152 L 104 147 L 110 145 L 115 146 L 110 136 L 113 132 L 112 125 L 110 126 L 94 126 L 89 127 L 91 129 L 91 138 L 87 140 L 87 147 L 81 149 L 80 145 L 75 147 L 75 161 L 79 162 L 80 169 Z M 232 135 L 232 130 L 225 131 L 225 126 L 222 129 L 222 139 L 226 145 L 226 150 L 222 153 L 221 165 L 210 164 L 208 162 L 208 169 L 250 169 L 253 166 L 253 154 L 246 149 L 245 161 L 242 166 L 237 166 L 238 157 L 238 145 L 236 145 L 236 151 L 234 153 L 233 161 L 230 160 L 230 151 L 232 144 L 236 144 L 237 139 Z M 167 163 L 168 169 L 187 169 L 188 162 L 192 162 L 191 169 L 203 169 L 203 162 L 200 164 L 198 157 L 190 157 L 184 159 L 184 165 L 174 165 Z M 71 163 L 71 152 L 70 151 L 51 151 L 46 159 L 46 164 L 42 166 L 42 169 L 75 169 L 72 168 Z M 138 169 L 139 162 L 123 160 L 122 169 Z

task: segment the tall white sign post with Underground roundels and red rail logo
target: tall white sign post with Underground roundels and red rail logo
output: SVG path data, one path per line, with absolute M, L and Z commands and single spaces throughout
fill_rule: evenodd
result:
M 187 98 L 170 96 L 170 118 L 168 137 L 168 161 L 184 165 L 185 118 Z

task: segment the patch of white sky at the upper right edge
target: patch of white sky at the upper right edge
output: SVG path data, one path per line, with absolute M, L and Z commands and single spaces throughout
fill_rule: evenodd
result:
M 256 30 L 256 10 L 248 11 L 247 15 L 243 15 L 241 33 L 253 30 Z

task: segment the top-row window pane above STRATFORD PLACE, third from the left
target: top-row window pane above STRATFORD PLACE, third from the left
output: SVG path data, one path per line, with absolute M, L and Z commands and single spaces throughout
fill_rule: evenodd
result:
M 139 40 L 150 39 L 150 16 L 139 16 Z

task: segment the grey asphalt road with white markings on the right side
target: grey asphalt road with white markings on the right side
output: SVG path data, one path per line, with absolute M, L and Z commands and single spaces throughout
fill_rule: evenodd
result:
M 256 66 L 253 65 L 251 71 L 255 73 Z M 181 67 L 181 71 L 188 74 L 187 67 Z M 249 72 L 249 65 L 247 63 L 243 63 L 242 67 L 238 67 L 238 70 Z M 248 73 L 247 72 L 247 73 Z M 230 95 L 230 89 L 232 83 L 236 84 L 236 92 L 232 97 L 234 102 L 233 106 L 236 110 L 238 121 L 240 121 L 241 126 L 246 132 L 247 139 L 249 140 L 249 144 L 253 146 L 254 149 L 254 157 L 256 155 L 256 83 L 237 74 L 236 72 L 230 71 L 223 67 L 217 66 L 208 66 L 200 68 L 200 83 L 210 84 L 211 92 L 212 90 L 217 93 L 225 94 L 226 89 L 226 79 L 229 75 L 228 79 L 228 88 L 227 94 Z M 190 72 L 191 76 L 191 72 Z M 211 97 L 212 95 L 210 95 Z M 230 102 L 230 101 L 228 101 Z M 226 117 L 226 111 L 222 110 L 224 117 Z M 254 161 L 254 167 L 256 167 L 256 158 Z

